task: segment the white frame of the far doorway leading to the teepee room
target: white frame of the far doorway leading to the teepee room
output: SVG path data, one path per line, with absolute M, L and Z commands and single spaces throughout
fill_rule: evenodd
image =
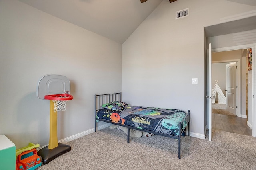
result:
M 222 51 L 215 51 L 216 49 L 212 49 L 212 52 L 222 52 Z M 226 50 L 232 51 L 232 50 Z M 230 59 L 230 60 L 219 60 L 219 61 L 212 61 L 212 63 L 227 63 L 227 62 L 236 62 L 237 69 L 236 69 L 236 115 L 241 117 L 242 108 L 241 108 L 241 60 L 240 59 Z

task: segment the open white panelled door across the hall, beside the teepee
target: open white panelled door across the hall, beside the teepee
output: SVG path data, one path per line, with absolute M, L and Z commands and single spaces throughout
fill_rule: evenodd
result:
M 236 115 L 236 62 L 226 65 L 227 111 Z

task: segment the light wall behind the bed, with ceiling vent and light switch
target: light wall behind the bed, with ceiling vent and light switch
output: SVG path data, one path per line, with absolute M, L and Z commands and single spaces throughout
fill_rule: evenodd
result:
M 191 110 L 190 134 L 204 137 L 204 27 L 255 10 L 229 1 L 163 1 L 122 45 L 122 92 L 134 105 Z M 189 16 L 175 20 L 175 12 Z M 198 78 L 198 84 L 191 84 Z

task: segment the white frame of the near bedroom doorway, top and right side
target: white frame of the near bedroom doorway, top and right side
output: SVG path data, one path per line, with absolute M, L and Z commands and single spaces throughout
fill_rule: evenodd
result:
M 246 44 L 246 45 L 237 45 L 231 47 L 222 47 L 212 49 L 212 52 L 221 52 L 221 51 L 232 51 L 232 50 L 239 50 L 239 49 L 248 49 L 252 48 L 252 56 L 254 56 L 254 60 L 252 60 L 252 136 L 256 137 L 256 43 L 253 44 Z M 240 69 L 239 69 L 240 70 Z M 241 81 L 239 81 L 241 82 Z M 241 102 L 240 102 L 241 103 Z M 210 122 L 209 122 L 210 123 Z

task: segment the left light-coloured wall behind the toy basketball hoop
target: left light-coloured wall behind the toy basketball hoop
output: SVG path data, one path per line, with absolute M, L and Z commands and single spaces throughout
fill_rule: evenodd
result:
M 94 93 L 120 92 L 121 44 L 19 1 L 0 1 L 0 135 L 16 148 L 47 145 L 49 100 L 36 97 L 39 78 L 67 76 L 67 111 L 58 113 L 58 140 L 94 128 Z

